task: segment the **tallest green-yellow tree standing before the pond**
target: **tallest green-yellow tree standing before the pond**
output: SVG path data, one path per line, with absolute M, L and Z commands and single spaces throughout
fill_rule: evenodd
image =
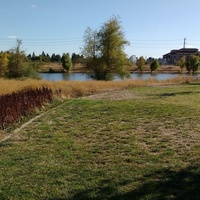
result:
M 129 44 L 116 17 L 105 22 L 99 31 L 87 28 L 84 35 L 83 55 L 86 57 L 88 74 L 97 80 L 112 80 L 115 75 L 125 78 L 130 75 L 130 64 L 124 47 Z

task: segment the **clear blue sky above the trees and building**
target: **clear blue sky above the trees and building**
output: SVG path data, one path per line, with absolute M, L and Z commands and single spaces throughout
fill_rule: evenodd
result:
M 27 54 L 81 53 L 87 27 L 119 16 L 128 56 L 162 57 L 200 49 L 199 0 L 0 0 L 0 51 L 22 40 Z

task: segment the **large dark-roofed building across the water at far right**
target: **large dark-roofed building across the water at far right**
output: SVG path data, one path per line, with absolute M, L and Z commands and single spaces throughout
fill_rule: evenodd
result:
M 163 59 L 167 64 L 176 64 L 183 56 L 189 57 L 190 55 L 200 55 L 196 48 L 182 48 L 179 50 L 171 50 L 170 53 L 163 55 Z

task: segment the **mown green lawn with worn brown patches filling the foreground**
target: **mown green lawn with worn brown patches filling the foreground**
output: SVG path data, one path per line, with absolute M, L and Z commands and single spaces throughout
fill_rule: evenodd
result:
M 65 100 L 0 144 L 0 199 L 200 199 L 200 85 Z

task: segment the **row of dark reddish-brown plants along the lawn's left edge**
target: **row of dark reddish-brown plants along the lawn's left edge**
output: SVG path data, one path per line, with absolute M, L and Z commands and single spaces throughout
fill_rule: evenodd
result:
M 52 100 L 52 96 L 52 90 L 46 87 L 0 96 L 0 129 L 18 121 L 35 108 L 41 108 Z

